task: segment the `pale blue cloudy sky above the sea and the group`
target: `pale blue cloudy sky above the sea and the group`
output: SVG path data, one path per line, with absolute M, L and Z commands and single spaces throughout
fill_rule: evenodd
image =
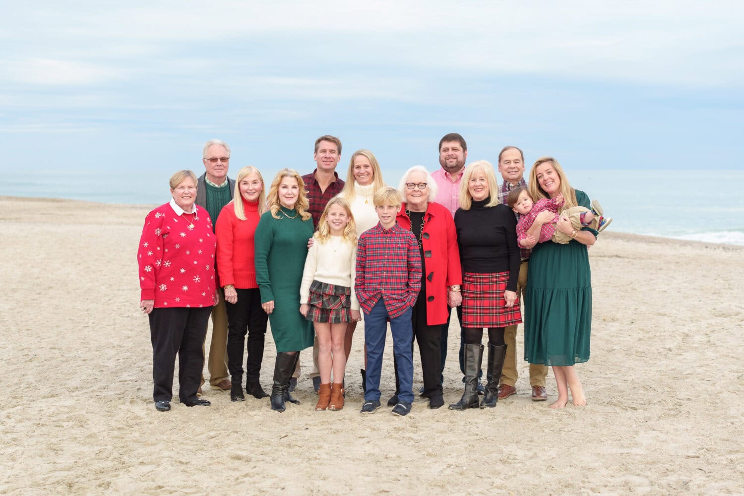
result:
M 341 175 L 367 148 L 395 184 L 449 132 L 468 161 L 734 169 L 742 19 L 734 1 L 7 2 L 0 173 L 166 183 L 211 138 L 231 175 L 308 173 L 331 134 Z

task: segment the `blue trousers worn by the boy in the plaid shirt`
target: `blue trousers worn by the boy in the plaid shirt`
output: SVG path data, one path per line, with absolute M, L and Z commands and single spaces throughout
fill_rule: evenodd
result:
M 390 319 L 390 330 L 393 335 L 393 352 L 398 364 L 400 393 L 398 399 L 414 402 L 414 360 L 411 348 L 413 327 L 411 326 L 410 308 L 396 318 Z M 382 298 L 365 312 L 365 345 L 367 346 L 367 391 L 365 402 L 379 401 L 379 378 L 382 373 L 382 352 L 385 351 L 385 335 L 388 334 L 388 310 Z

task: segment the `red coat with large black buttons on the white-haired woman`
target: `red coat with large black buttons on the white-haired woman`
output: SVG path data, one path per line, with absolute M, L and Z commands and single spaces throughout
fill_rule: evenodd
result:
M 411 231 L 411 219 L 405 214 L 405 202 L 396 220 L 401 228 Z M 422 269 L 426 277 L 426 323 L 436 326 L 447 321 L 448 287 L 462 284 L 463 281 L 455 221 L 452 213 L 443 205 L 429 202 L 423 216 L 421 246 L 424 253 Z

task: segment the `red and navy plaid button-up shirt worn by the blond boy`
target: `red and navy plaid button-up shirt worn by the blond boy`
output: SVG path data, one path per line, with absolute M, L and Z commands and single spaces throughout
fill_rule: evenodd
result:
M 359 236 L 354 291 L 365 313 L 382 298 L 390 318 L 414 306 L 421 289 L 421 254 L 411 231 L 377 225 Z

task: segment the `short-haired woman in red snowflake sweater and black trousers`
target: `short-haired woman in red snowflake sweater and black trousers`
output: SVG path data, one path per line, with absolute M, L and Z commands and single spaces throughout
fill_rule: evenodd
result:
M 170 193 L 170 202 L 147 214 L 137 254 L 140 308 L 150 318 L 153 399 L 158 411 L 170 410 L 176 353 L 179 399 L 187 407 L 210 405 L 196 397 L 196 390 L 204 367 L 207 322 L 217 302 L 217 236 L 207 211 L 194 204 L 196 175 L 190 170 L 173 174 Z

